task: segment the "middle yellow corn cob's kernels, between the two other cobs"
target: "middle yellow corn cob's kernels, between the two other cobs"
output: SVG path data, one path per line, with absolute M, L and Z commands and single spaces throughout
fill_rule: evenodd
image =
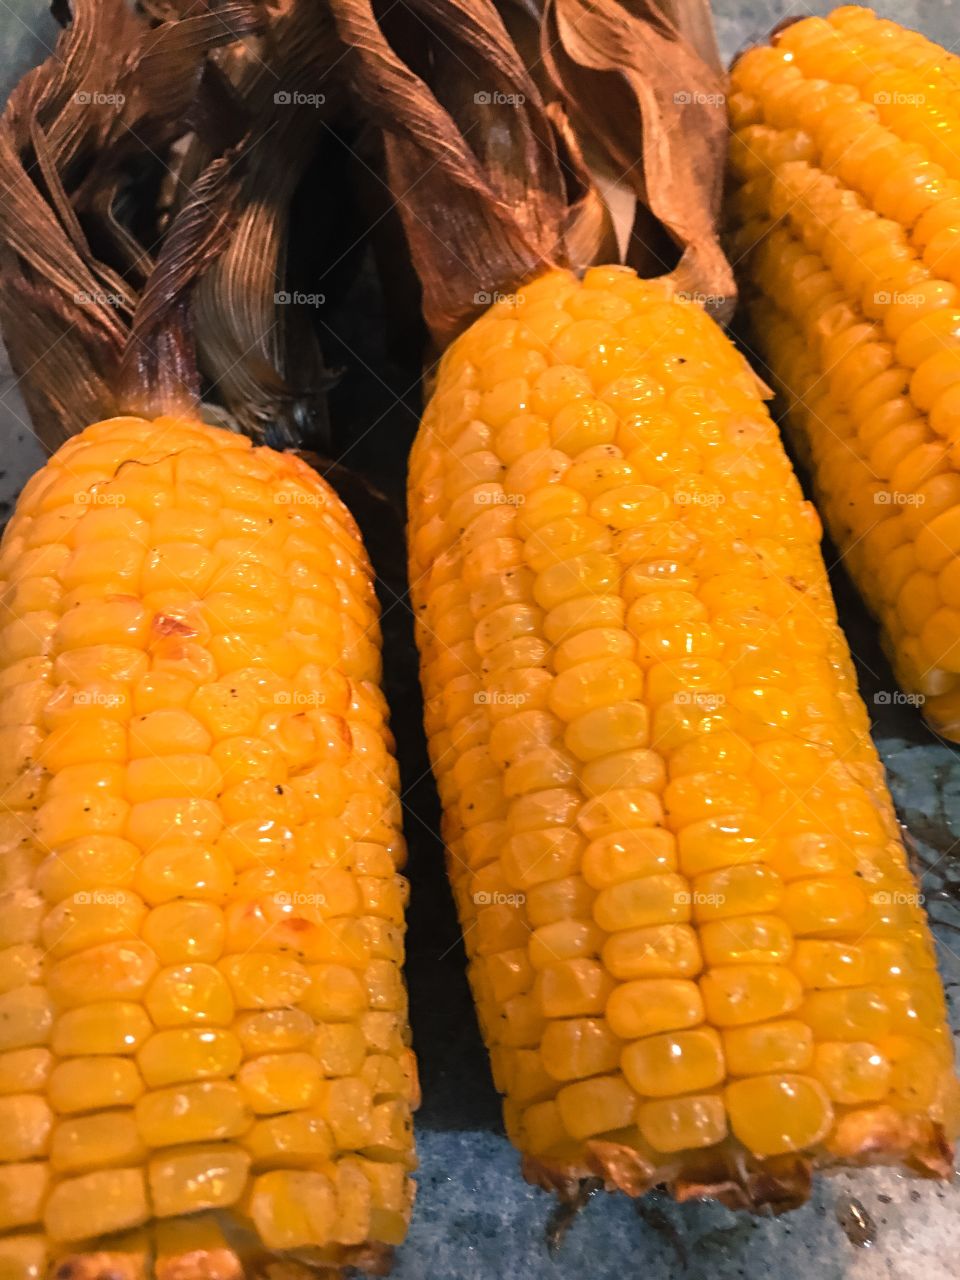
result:
M 623 268 L 443 358 L 413 448 L 430 753 L 480 1025 L 545 1183 L 945 1175 L 951 1042 L 819 525 L 741 357 Z M 909 1062 L 928 1064 L 919 1092 Z

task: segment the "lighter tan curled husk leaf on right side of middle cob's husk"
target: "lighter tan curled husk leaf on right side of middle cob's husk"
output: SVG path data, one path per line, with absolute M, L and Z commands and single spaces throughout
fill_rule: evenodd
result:
M 726 77 L 707 0 L 545 0 L 540 56 L 598 180 L 636 198 L 625 260 L 669 274 L 678 292 L 728 319 L 733 271 L 718 220 L 727 152 Z M 681 251 L 672 265 L 658 229 Z

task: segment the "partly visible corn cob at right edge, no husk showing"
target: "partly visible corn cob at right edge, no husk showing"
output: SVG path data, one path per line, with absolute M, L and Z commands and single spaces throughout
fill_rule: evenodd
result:
M 960 740 L 960 59 L 867 9 L 735 65 L 733 259 L 901 686 Z

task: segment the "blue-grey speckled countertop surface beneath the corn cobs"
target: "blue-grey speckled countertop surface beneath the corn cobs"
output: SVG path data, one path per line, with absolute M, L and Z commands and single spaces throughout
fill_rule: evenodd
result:
M 730 58 L 785 17 L 829 8 L 788 0 L 714 0 L 723 55 Z M 874 8 L 942 42 L 960 42 L 960 0 L 883 0 Z M 40 3 L 0 0 L 0 92 L 5 95 L 27 65 L 45 56 L 54 38 L 52 19 Z M 334 397 L 334 417 L 352 413 L 355 422 L 362 422 L 365 415 L 381 416 L 383 406 L 371 410 L 362 392 L 351 392 L 357 381 L 351 379 L 346 342 L 343 364 L 347 375 L 343 392 Z M 393 429 L 394 439 L 412 431 L 415 407 L 408 401 L 408 396 L 396 397 L 402 426 Z M 0 502 L 6 504 L 40 463 L 41 453 L 3 367 L 0 417 Z M 396 456 L 396 448 L 392 452 Z M 396 532 L 387 530 L 376 539 L 384 547 L 393 539 L 394 564 Z M 376 548 L 372 554 L 376 559 Z M 827 556 L 828 562 L 836 559 L 829 549 Z M 625 1197 L 598 1196 L 550 1256 L 547 1236 L 553 1203 L 520 1178 L 466 991 L 463 955 L 435 837 L 435 796 L 416 727 L 410 617 L 389 572 L 385 580 L 388 692 L 403 760 L 413 884 L 408 980 L 424 1084 L 417 1116 L 420 1197 L 410 1238 L 398 1253 L 396 1280 L 622 1280 L 640 1274 L 657 1280 L 956 1277 L 960 1183 L 942 1187 L 887 1171 L 823 1178 L 809 1204 L 781 1219 L 750 1219 L 708 1203 L 676 1206 L 648 1197 L 635 1206 Z M 951 872 L 951 859 L 945 856 L 960 840 L 960 754 L 937 742 L 910 707 L 897 705 L 896 686 L 869 620 L 841 570 L 833 572 L 833 580 L 896 803 L 922 860 L 932 868 L 923 887 L 938 922 L 941 970 L 954 1027 L 960 1028 L 960 913 L 937 897 L 945 876 L 960 881 L 960 864 L 952 861 Z M 868 1247 L 849 1238 L 858 1234 L 854 1198 L 873 1224 Z

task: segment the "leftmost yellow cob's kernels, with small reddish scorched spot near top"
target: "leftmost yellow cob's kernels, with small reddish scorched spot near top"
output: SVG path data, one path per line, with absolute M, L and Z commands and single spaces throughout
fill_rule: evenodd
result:
M 0 580 L 4 1280 L 210 1208 L 319 1262 L 398 1243 L 403 842 L 351 517 L 292 456 L 118 419 L 27 485 Z

